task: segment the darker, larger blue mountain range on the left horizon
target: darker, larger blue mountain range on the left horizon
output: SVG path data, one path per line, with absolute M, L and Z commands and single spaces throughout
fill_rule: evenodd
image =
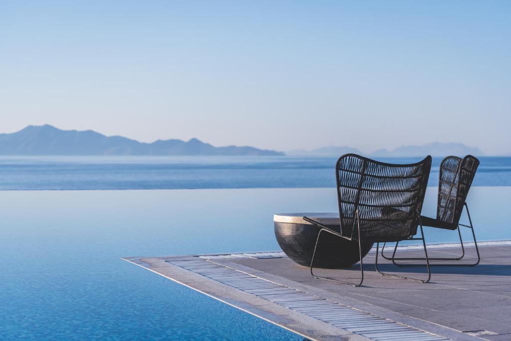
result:
M 61 130 L 51 125 L 28 126 L 0 134 L 2 155 L 284 155 L 253 147 L 215 147 L 197 139 L 143 143 L 96 131 Z

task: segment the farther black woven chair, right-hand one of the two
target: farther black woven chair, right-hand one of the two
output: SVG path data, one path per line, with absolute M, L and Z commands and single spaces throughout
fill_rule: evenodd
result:
M 461 231 L 459 226 L 464 226 L 466 228 L 471 229 L 472 236 L 474 237 L 474 243 L 476 247 L 477 253 L 477 262 L 467 264 L 456 264 L 456 265 L 464 265 L 464 266 L 475 266 L 479 264 L 481 260 L 481 256 L 479 255 L 479 248 L 477 247 L 476 235 L 474 233 L 474 226 L 472 225 L 472 219 L 470 217 L 469 206 L 467 204 L 467 195 L 470 190 L 470 186 L 472 185 L 472 180 L 477 171 L 477 167 L 479 166 L 479 160 L 475 156 L 467 155 L 463 157 L 463 159 L 457 156 L 447 156 L 440 164 L 440 174 L 438 181 L 438 203 L 436 208 L 436 218 L 429 217 L 421 217 L 423 226 L 430 226 L 432 228 L 437 229 L 445 229 L 445 230 L 458 230 L 459 242 L 461 244 L 461 256 L 454 258 L 429 258 L 429 260 L 438 260 L 438 261 L 458 261 L 461 260 L 465 256 L 465 248 L 463 247 L 463 240 L 461 239 Z M 463 212 L 463 207 L 467 210 L 467 216 L 469 218 L 470 225 L 459 223 L 459 219 L 461 217 L 461 213 Z M 425 260 L 424 258 L 397 258 L 396 250 L 398 248 L 399 242 L 396 243 L 396 247 L 394 247 L 394 252 L 392 257 L 386 257 L 383 254 L 383 249 L 385 248 L 385 244 L 382 247 L 382 257 L 388 260 L 392 260 L 392 262 L 399 266 L 413 266 L 415 264 L 398 264 L 396 260 Z M 445 264 L 445 263 L 433 263 L 430 265 L 453 265 L 453 264 Z

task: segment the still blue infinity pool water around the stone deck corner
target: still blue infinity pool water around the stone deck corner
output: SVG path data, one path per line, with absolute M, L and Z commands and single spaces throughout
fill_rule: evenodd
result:
M 510 198 L 511 187 L 471 189 L 479 240 L 511 239 Z M 429 188 L 424 214 L 435 200 Z M 2 340 L 299 340 L 120 257 L 277 249 L 273 213 L 335 212 L 336 199 L 331 188 L 2 191 L 0 207 Z

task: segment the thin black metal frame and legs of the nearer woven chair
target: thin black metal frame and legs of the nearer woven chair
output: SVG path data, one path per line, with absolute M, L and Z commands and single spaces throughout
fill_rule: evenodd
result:
M 410 278 L 410 277 L 399 276 L 399 275 L 394 275 L 394 274 L 388 274 L 386 272 L 380 271 L 380 269 L 378 268 L 378 255 L 379 255 L 379 244 L 380 244 L 381 241 L 374 240 L 374 242 L 377 243 L 377 246 L 376 246 L 375 268 L 376 268 L 376 271 L 378 272 L 378 274 L 380 274 L 382 276 L 391 276 L 391 277 L 402 278 L 402 279 L 407 279 L 407 280 L 419 281 L 419 282 L 422 282 L 422 283 L 428 283 L 430 281 L 430 279 L 431 279 L 431 269 L 429 267 L 428 252 L 427 252 L 427 249 L 426 249 L 426 241 L 425 241 L 425 238 L 424 238 L 424 231 L 423 231 L 423 226 L 422 226 L 422 221 L 421 221 L 421 209 L 422 209 L 422 203 L 424 201 L 425 187 L 427 186 L 428 177 L 429 177 L 429 171 L 430 171 L 430 168 L 431 168 L 431 156 L 426 157 L 422 162 L 419 162 L 419 163 L 416 163 L 416 164 L 410 164 L 410 165 L 393 165 L 393 164 L 381 163 L 381 162 L 370 160 L 368 158 L 365 158 L 365 157 L 362 157 L 362 156 L 359 156 L 359 155 L 356 155 L 356 154 L 345 154 L 345 155 L 341 156 L 339 158 L 339 160 L 337 161 L 337 163 L 336 163 L 337 195 L 338 195 L 338 203 L 339 203 L 339 220 L 340 220 L 340 226 L 341 226 L 341 233 L 330 229 L 328 226 L 323 225 L 323 224 L 321 224 L 318 221 L 315 221 L 315 220 L 310 219 L 308 217 L 303 217 L 304 220 L 310 222 L 311 224 L 317 226 L 320 229 L 319 233 L 318 233 L 318 237 L 316 239 L 315 246 L 314 246 L 314 252 L 313 252 L 313 255 L 312 255 L 312 260 L 311 260 L 311 265 L 310 265 L 311 276 L 316 278 L 316 279 L 329 280 L 329 281 L 338 282 L 338 283 L 342 283 L 342 284 L 350 284 L 350 285 L 353 285 L 355 287 L 358 287 L 358 286 L 362 285 L 362 282 L 364 281 L 364 263 L 363 263 L 363 257 L 362 257 L 362 251 L 361 251 L 362 250 L 361 242 L 363 242 L 363 241 L 362 241 L 361 234 L 360 234 L 360 211 L 359 211 L 358 208 L 355 210 L 354 215 L 353 215 L 353 225 L 352 225 L 352 229 L 351 229 L 351 236 L 347 237 L 347 236 L 342 234 L 342 231 L 343 231 L 343 229 L 342 229 L 343 211 L 342 211 L 341 202 L 343 202 L 343 200 L 341 198 L 341 192 L 339 190 L 342 187 L 341 184 L 340 184 L 340 178 L 339 178 L 339 171 L 340 171 L 339 164 L 340 164 L 340 161 L 342 160 L 342 158 L 350 157 L 350 156 L 360 158 L 361 160 L 363 160 L 363 163 L 364 163 L 362 171 L 361 171 L 361 173 L 359 173 L 360 174 L 360 180 L 359 180 L 359 183 L 358 183 L 358 188 L 356 189 L 358 191 L 358 193 L 357 193 L 357 199 L 356 199 L 357 202 L 355 203 L 355 207 L 357 207 L 358 204 L 359 204 L 359 201 L 358 201 L 360 199 L 359 192 L 362 190 L 362 180 L 363 180 L 364 176 L 366 175 L 364 173 L 364 171 L 365 171 L 365 167 L 366 167 L 366 163 L 367 162 L 371 162 L 371 163 L 374 163 L 376 165 L 390 166 L 390 167 L 407 167 L 407 166 L 410 167 L 410 166 L 424 165 L 424 167 L 427 168 L 427 169 L 425 169 L 425 174 L 420 175 L 420 176 L 423 177 L 423 179 L 420 182 L 420 187 L 419 187 L 419 192 L 418 192 L 418 193 L 420 193 L 419 196 L 421 196 L 421 197 L 418 198 L 418 201 L 416 203 L 416 205 L 417 205 L 417 209 L 416 209 L 416 222 L 420 226 L 422 237 L 421 238 L 414 238 L 413 236 L 415 235 L 415 233 L 409 233 L 406 237 L 403 236 L 400 239 L 401 240 L 422 240 L 423 241 L 424 253 L 425 253 L 425 256 L 426 256 L 425 259 L 426 259 L 426 266 L 427 266 L 427 271 L 428 271 L 428 278 L 426 280 L 416 279 L 416 278 Z M 400 178 L 400 177 L 399 176 L 393 176 L 393 178 L 396 179 L 396 178 Z M 405 179 L 407 177 L 402 177 L 402 178 Z M 416 190 L 417 189 L 414 189 L 413 191 L 416 191 Z M 421 191 L 422 191 L 422 193 L 421 193 Z M 381 191 L 381 192 L 385 192 L 385 191 Z M 399 192 L 399 191 L 396 190 L 396 191 L 393 191 L 393 192 Z M 388 207 L 388 208 L 392 209 L 391 206 L 392 205 L 390 205 L 390 207 Z M 385 207 L 385 206 L 382 205 L 382 207 Z M 394 211 L 397 211 L 397 210 L 394 209 Z M 412 218 L 412 219 L 414 220 L 415 218 Z M 355 227 L 357 228 L 357 235 L 356 235 L 357 238 L 354 237 Z M 415 225 L 415 227 L 416 227 L 416 225 Z M 359 253 L 360 253 L 360 281 L 359 282 L 352 283 L 352 282 L 347 282 L 347 281 L 341 281 L 341 280 L 334 279 L 334 278 L 321 277 L 321 276 L 317 276 L 317 275 L 314 274 L 314 271 L 313 271 L 313 268 L 314 268 L 314 256 L 316 255 L 319 238 L 320 238 L 322 232 L 327 232 L 327 233 L 336 235 L 336 236 L 338 236 L 340 238 L 344 238 L 346 240 L 350 240 L 350 241 L 356 240 L 356 241 L 358 241 Z M 415 229 L 415 232 L 416 232 L 416 229 Z M 373 240 L 368 240 L 368 241 L 373 241 Z

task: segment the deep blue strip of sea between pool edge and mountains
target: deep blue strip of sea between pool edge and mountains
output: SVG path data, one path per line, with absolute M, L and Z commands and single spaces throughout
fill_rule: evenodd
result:
M 0 156 L 0 189 L 333 187 L 335 161 L 335 157 L 291 156 Z M 440 161 L 433 159 L 430 185 L 437 184 Z M 480 161 L 474 186 L 511 186 L 511 157 Z

